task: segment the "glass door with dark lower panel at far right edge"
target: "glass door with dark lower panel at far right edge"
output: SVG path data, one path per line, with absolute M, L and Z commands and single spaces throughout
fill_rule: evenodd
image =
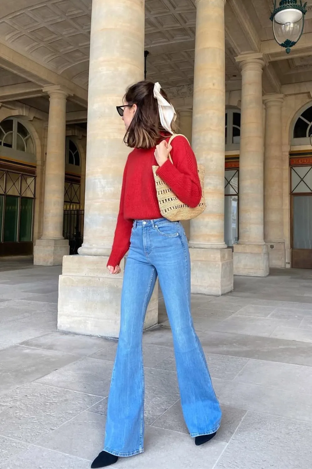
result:
M 312 166 L 291 168 L 292 267 L 312 269 Z

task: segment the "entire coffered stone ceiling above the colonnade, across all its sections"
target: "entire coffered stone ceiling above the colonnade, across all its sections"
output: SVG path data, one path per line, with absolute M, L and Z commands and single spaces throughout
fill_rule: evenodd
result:
M 22 66 L 15 66 L 15 74 L 12 73 L 13 66 L 6 67 L 7 62 L 2 60 L 0 87 L 18 86 L 29 80 L 39 88 L 46 83 L 56 83 L 44 73 L 44 70 L 49 70 L 68 83 L 79 85 L 82 91 L 87 90 L 92 0 L 12 0 L 2 3 L 0 45 L 7 46 L 7 51 L 13 49 L 44 68 L 41 78 L 36 80 L 32 79 L 31 69 L 22 73 Z M 230 89 L 239 89 L 240 86 L 235 56 L 262 49 L 273 61 L 265 72 L 266 92 L 276 91 L 283 83 L 311 79 L 312 0 L 308 1 L 305 34 L 300 40 L 305 50 L 301 53 L 301 49 L 296 52 L 298 49 L 295 51 L 294 48 L 294 53 L 289 56 L 273 39 L 269 20 L 272 8 L 273 0 L 227 0 L 225 79 Z M 150 52 L 147 58 L 149 79 L 160 81 L 165 88 L 192 85 L 195 30 L 195 0 L 145 0 L 145 48 Z M 34 97 L 33 92 L 31 98 Z M 44 102 L 42 106 L 45 106 Z

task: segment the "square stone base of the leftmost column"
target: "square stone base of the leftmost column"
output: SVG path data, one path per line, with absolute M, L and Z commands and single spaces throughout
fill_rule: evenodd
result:
M 62 265 L 69 254 L 67 239 L 37 239 L 34 246 L 34 265 Z

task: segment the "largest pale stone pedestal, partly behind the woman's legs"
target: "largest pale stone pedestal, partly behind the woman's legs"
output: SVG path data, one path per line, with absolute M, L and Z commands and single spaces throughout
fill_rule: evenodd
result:
M 100 337 L 118 337 L 123 274 L 111 275 L 105 256 L 65 256 L 58 283 L 58 330 Z M 121 263 L 124 269 L 123 260 Z M 158 324 L 158 284 L 144 329 Z

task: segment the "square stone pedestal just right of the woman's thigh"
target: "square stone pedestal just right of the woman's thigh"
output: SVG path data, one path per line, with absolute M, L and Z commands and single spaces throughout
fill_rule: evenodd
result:
M 224 295 L 233 290 L 232 249 L 190 248 L 191 292 Z

